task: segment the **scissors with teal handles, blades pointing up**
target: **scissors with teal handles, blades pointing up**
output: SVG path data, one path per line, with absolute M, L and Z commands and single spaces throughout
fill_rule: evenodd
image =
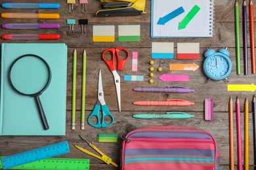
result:
M 102 122 L 101 123 L 100 123 L 100 106 L 101 106 L 101 110 L 102 110 Z M 96 124 L 93 124 L 91 122 L 91 118 L 93 116 L 96 116 L 96 118 L 97 118 Z M 110 124 L 106 124 L 104 122 L 104 119 L 106 116 L 110 116 L 110 118 L 112 119 Z M 108 107 L 104 101 L 101 71 L 99 71 L 99 73 L 98 73 L 98 99 L 97 99 L 97 102 L 93 109 L 93 112 L 91 112 L 90 116 L 88 117 L 88 123 L 89 123 L 89 125 L 91 125 L 93 127 L 97 127 L 97 128 L 108 127 L 114 123 L 114 116 L 110 113 L 110 110 L 108 110 Z

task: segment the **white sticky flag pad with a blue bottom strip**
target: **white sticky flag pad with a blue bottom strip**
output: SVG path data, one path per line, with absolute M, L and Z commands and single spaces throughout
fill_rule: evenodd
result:
M 173 42 L 152 42 L 152 54 L 154 59 L 173 59 Z

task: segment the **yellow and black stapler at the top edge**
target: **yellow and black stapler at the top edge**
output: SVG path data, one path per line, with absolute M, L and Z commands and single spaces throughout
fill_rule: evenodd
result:
M 133 16 L 144 12 L 146 0 L 100 0 L 102 10 L 96 12 L 96 16 Z

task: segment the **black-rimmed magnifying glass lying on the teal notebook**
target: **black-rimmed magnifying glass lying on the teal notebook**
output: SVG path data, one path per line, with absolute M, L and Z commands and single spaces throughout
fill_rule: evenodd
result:
M 37 55 L 25 54 L 12 62 L 8 77 L 11 87 L 17 93 L 35 98 L 43 127 L 45 130 L 49 129 L 39 99 L 39 95 L 48 88 L 51 82 L 51 69 L 48 63 Z

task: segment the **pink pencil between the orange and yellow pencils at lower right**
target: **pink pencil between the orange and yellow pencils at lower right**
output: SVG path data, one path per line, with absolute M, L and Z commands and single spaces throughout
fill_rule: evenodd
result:
M 240 101 L 236 98 L 236 128 L 238 138 L 238 170 L 243 169 L 242 164 L 242 137 L 241 137 L 241 120 L 240 120 Z

